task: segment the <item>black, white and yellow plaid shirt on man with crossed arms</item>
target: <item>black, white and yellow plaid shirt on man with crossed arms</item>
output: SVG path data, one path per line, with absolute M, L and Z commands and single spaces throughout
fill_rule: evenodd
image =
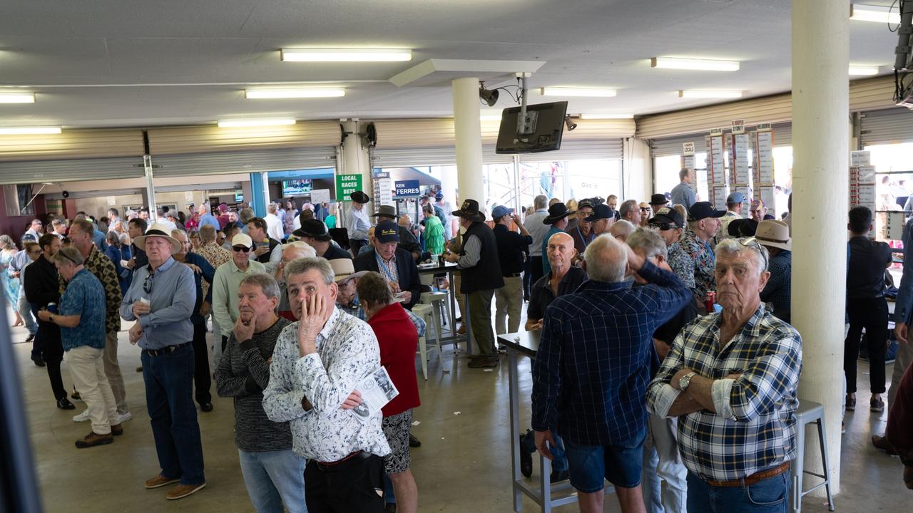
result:
M 678 334 L 646 403 L 668 417 L 678 394 L 669 382 L 687 368 L 713 383 L 718 413 L 678 417 L 678 449 L 685 466 L 706 480 L 729 481 L 777 466 L 795 456 L 796 386 L 802 366 L 799 332 L 759 307 L 719 349 L 720 314 L 699 317 Z M 727 378 L 740 373 L 738 379 Z

